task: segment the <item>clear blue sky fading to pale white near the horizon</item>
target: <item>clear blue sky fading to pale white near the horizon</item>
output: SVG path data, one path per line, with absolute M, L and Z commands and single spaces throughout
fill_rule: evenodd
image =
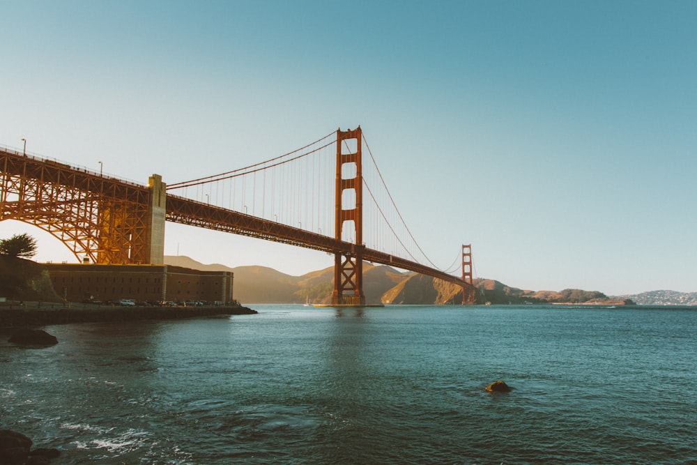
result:
M 443 267 L 697 291 L 695 1 L 0 1 L 0 144 L 174 183 L 361 125 Z M 75 260 L 34 227 L 38 260 Z M 166 254 L 331 257 L 167 225 Z

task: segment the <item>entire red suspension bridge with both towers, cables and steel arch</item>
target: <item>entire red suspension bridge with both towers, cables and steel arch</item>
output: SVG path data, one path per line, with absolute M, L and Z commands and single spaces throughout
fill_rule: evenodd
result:
M 248 167 L 169 185 L 158 174 L 138 185 L 10 148 L 0 148 L 0 167 L 0 221 L 44 229 L 79 260 L 162 264 L 169 221 L 333 254 L 332 305 L 365 305 L 363 261 L 457 284 L 462 302 L 474 303 L 470 245 L 461 245 L 459 263 L 447 269 L 427 257 L 360 126 Z

